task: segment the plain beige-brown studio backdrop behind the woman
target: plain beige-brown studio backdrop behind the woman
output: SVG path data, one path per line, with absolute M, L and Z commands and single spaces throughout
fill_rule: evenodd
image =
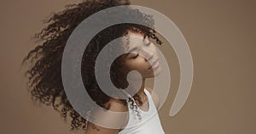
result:
M 0 133 L 73 133 L 53 109 L 33 105 L 21 75 L 20 61 L 34 47 L 31 37 L 43 28 L 41 20 L 75 2 L 79 1 L 0 2 Z M 189 99 L 171 118 L 168 113 L 177 92 L 179 66 L 172 48 L 167 49 L 172 88 L 160 109 L 166 133 L 256 133 L 255 1 L 132 2 L 166 14 L 183 32 L 194 59 Z

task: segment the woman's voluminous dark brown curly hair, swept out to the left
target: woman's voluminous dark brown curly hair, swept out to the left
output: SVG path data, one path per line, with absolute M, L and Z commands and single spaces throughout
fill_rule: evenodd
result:
M 71 117 L 71 130 L 86 129 L 87 120 L 73 109 L 62 85 L 61 59 L 68 37 L 91 14 L 95 14 L 105 8 L 129 4 L 128 0 L 87 0 L 79 4 L 67 5 L 63 11 L 52 14 L 49 20 L 44 22 L 48 25 L 34 36 L 41 44 L 33 48 L 22 61 L 22 64 L 26 62 L 31 64 L 28 70 L 26 70 L 26 77 L 28 78 L 27 85 L 32 95 L 32 100 L 52 106 L 56 111 L 60 112 L 61 117 L 66 121 L 67 117 Z M 141 18 L 145 20 L 145 23 L 154 25 L 154 20 L 150 15 L 140 13 L 137 10 L 134 10 L 134 12 L 141 14 Z M 141 32 L 144 34 L 144 37 L 148 36 L 158 44 L 162 43 L 155 36 L 153 29 L 136 24 L 112 25 L 99 32 L 90 41 L 84 51 L 81 64 L 84 87 L 90 94 L 90 97 L 105 109 L 108 109 L 105 103 L 109 101 L 110 97 L 102 92 L 96 82 L 96 57 L 108 42 L 113 41 L 117 37 L 125 36 L 127 31 Z M 114 86 L 125 89 L 128 83 L 125 75 L 119 73 L 119 69 L 122 68 L 121 62 L 122 60 L 119 58 L 114 60 L 111 65 L 110 74 Z M 133 98 L 141 103 L 137 95 Z M 125 100 L 120 101 L 127 105 Z M 135 102 L 131 98 L 129 98 L 129 103 L 131 103 L 131 109 L 137 111 Z M 138 112 L 137 115 L 139 115 Z

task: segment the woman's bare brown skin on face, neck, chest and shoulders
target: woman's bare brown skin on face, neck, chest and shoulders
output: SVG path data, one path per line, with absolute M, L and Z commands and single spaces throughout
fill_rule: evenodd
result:
M 150 63 L 154 63 L 157 59 L 159 59 L 156 47 L 152 42 L 148 41 L 148 38 L 143 38 L 143 35 L 140 33 L 135 33 L 132 31 L 128 31 L 128 34 L 126 35 L 130 38 L 129 47 L 127 48 L 127 53 L 130 52 L 130 50 L 133 50 L 132 53 L 128 54 L 127 57 L 125 57 L 125 68 L 127 72 L 131 70 L 137 70 L 143 77 L 143 84 L 139 88 L 137 95 L 142 98 L 141 101 L 143 105 L 140 105 L 137 103 L 137 106 L 139 106 L 140 109 L 147 111 L 149 109 L 148 106 L 148 97 L 144 93 L 145 88 L 145 79 L 154 77 L 155 75 L 158 75 L 161 71 L 160 67 L 153 69 Z M 134 49 L 136 47 L 136 49 Z M 138 53 L 138 54 L 137 54 Z M 155 71 L 155 72 L 154 72 Z M 131 81 L 137 81 L 136 77 L 132 77 Z M 154 105 L 157 109 L 159 109 L 160 101 L 156 93 L 151 88 L 146 88 L 148 92 L 150 92 L 153 100 Z M 128 123 L 129 120 L 129 112 L 127 105 L 124 105 L 122 102 L 120 102 L 118 99 L 111 98 L 108 103 L 106 103 L 106 106 L 109 107 L 110 111 L 114 112 L 126 112 L 125 119 L 124 117 L 108 117 L 102 116 L 102 120 L 111 120 L 111 121 L 117 121 L 119 124 L 122 125 L 123 128 Z M 96 112 L 94 116 L 100 116 Z M 120 122 L 121 121 L 121 122 Z M 105 128 L 102 126 L 96 126 L 95 124 L 92 124 L 89 122 L 87 130 L 85 131 L 86 134 L 117 134 L 119 131 L 122 131 L 123 129 L 110 129 Z

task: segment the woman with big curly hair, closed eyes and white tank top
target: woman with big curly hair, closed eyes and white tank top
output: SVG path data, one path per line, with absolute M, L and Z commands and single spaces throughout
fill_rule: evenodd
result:
M 98 109 L 91 109 L 88 112 L 88 118 L 83 118 L 68 101 L 62 84 L 62 54 L 68 37 L 77 25 L 91 14 L 95 14 L 102 9 L 129 4 L 130 2 L 127 0 L 89 0 L 79 4 L 68 5 L 61 13 L 53 14 L 46 22 L 49 25 L 36 34 L 35 37 L 42 44 L 28 53 L 23 61 L 32 64 L 29 70 L 26 71 L 32 99 L 53 106 L 65 120 L 70 117 L 72 119 L 72 130 L 82 128 L 86 134 L 164 133 L 158 114 L 154 114 L 159 106 L 157 95 L 152 89 L 144 87 L 146 78 L 154 77 L 160 73 L 156 48 L 153 42 L 149 42 L 149 38 L 154 39 L 157 44 L 162 42 L 155 36 L 153 29 L 135 24 L 113 25 L 99 32 L 84 51 L 81 74 L 84 87 L 90 98 L 97 105 L 109 111 L 126 112 L 126 118 L 101 116 L 101 114 L 97 113 Z M 137 10 L 131 9 L 131 11 L 141 16 L 139 18 L 144 20 L 145 24 L 154 24 L 154 20 L 150 16 Z M 107 61 L 108 64 L 111 64 L 110 78 L 113 85 L 124 91 L 123 89 L 130 84 L 126 77 L 131 70 L 137 70 L 143 80 L 142 85 L 139 87 L 133 85 L 131 92 L 125 92 L 126 99 L 112 98 L 102 92 L 95 76 L 98 54 L 108 42 L 119 37 L 125 37 L 125 40 L 119 43 L 124 48 L 125 54 L 115 59 L 113 64 Z M 137 81 L 137 77 L 131 77 L 130 80 L 131 83 L 132 81 Z M 119 94 L 114 95 L 119 96 Z M 90 108 L 91 104 L 85 103 L 84 107 Z M 102 120 L 118 123 L 121 127 L 113 129 L 98 126 L 93 120 L 89 120 L 99 116 L 101 116 Z M 133 116 L 136 118 L 133 118 Z

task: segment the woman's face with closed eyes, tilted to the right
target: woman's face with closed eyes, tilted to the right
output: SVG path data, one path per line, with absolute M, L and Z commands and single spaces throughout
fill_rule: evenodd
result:
M 125 68 L 128 71 L 137 70 L 143 78 L 159 75 L 161 68 L 154 43 L 149 42 L 148 37 L 143 38 L 143 34 L 132 31 L 128 31 L 126 37 L 129 44 L 125 51 L 129 54 L 125 57 Z

